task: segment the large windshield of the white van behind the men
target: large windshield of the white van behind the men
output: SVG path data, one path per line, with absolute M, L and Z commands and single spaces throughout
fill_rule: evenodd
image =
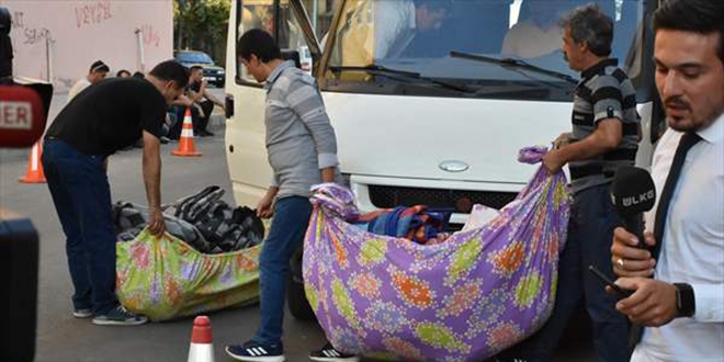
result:
M 478 89 L 465 97 L 570 101 L 570 78 L 579 75 L 563 57 L 561 19 L 590 2 L 613 20 L 611 57 L 635 77 L 642 54 L 640 0 L 350 0 L 333 34 L 333 71 L 326 77 L 333 84 L 378 83 L 380 71 L 364 75 L 377 66 Z

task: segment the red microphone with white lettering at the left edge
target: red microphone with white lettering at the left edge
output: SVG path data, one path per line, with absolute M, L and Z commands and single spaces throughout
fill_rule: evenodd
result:
M 45 132 L 46 106 L 29 87 L 0 87 L 0 147 L 31 147 Z

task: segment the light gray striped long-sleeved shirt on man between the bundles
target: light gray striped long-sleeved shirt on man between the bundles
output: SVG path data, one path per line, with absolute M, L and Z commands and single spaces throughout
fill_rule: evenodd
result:
M 273 170 L 271 184 L 278 199 L 309 196 L 321 182 L 320 169 L 338 166 L 337 139 L 317 83 L 306 72 L 284 61 L 264 84 L 267 151 Z M 341 180 L 339 169 L 337 179 Z

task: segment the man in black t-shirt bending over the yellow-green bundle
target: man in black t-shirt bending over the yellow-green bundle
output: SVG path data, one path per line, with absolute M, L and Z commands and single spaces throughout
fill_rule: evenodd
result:
M 97 325 L 139 325 L 115 296 L 115 242 L 108 157 L 143 138 L 143 173 L 149 230 L 163 234 L 161 124 L 168 105 L 186 86 L 180 64 L 159 64 L 144 78 L 114 78 L 73 98 L 45 135 L 43 167 L 66 234 L 75 293 L 73 316 Z

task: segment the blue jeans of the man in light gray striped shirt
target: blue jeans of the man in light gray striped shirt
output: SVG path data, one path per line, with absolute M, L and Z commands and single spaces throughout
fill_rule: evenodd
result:
M 307 197 L 284 197 L 274 204 L 274 218 L 259 257 L 261 325 L 253 337 L 257 342 L 282 341 L 290 260 L 304 242 L 310 216 L 312 204 Z

